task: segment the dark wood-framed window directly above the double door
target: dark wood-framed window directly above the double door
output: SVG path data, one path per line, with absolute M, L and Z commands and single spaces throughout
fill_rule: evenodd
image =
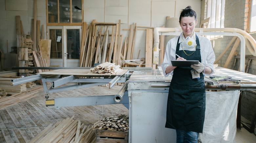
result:
M 82 0 L 47 0 L 47 25 L 81 25 Z

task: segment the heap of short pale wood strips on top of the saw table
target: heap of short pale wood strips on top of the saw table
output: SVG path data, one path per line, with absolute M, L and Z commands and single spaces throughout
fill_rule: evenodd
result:
M 117 74 L 122 69 L 120 69 L 120 65 L 115 65 L 115 63 L 105 62 L 97 65 L 94 68 L 90 69 L 93 73 L 107 73 L 107 74 Z

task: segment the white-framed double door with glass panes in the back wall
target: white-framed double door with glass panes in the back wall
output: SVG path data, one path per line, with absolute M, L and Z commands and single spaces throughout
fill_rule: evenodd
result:
M 79 67 L 81 26 L 48 26 L 50 66 Z

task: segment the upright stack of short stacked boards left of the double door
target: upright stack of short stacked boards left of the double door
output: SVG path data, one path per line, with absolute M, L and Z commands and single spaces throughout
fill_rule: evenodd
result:
M 19 67 L 32 67 L 32 43 L 30 35 L 17 34 L 17 54 L 19 60 Z M 34 70 L 19 70 L 19 76 L 34 75 Z

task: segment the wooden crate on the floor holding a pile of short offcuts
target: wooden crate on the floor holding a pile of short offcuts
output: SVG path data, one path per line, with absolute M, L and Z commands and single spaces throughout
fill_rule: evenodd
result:
M 128 131 L 96 130 L 96 143 L 128 143 Z

